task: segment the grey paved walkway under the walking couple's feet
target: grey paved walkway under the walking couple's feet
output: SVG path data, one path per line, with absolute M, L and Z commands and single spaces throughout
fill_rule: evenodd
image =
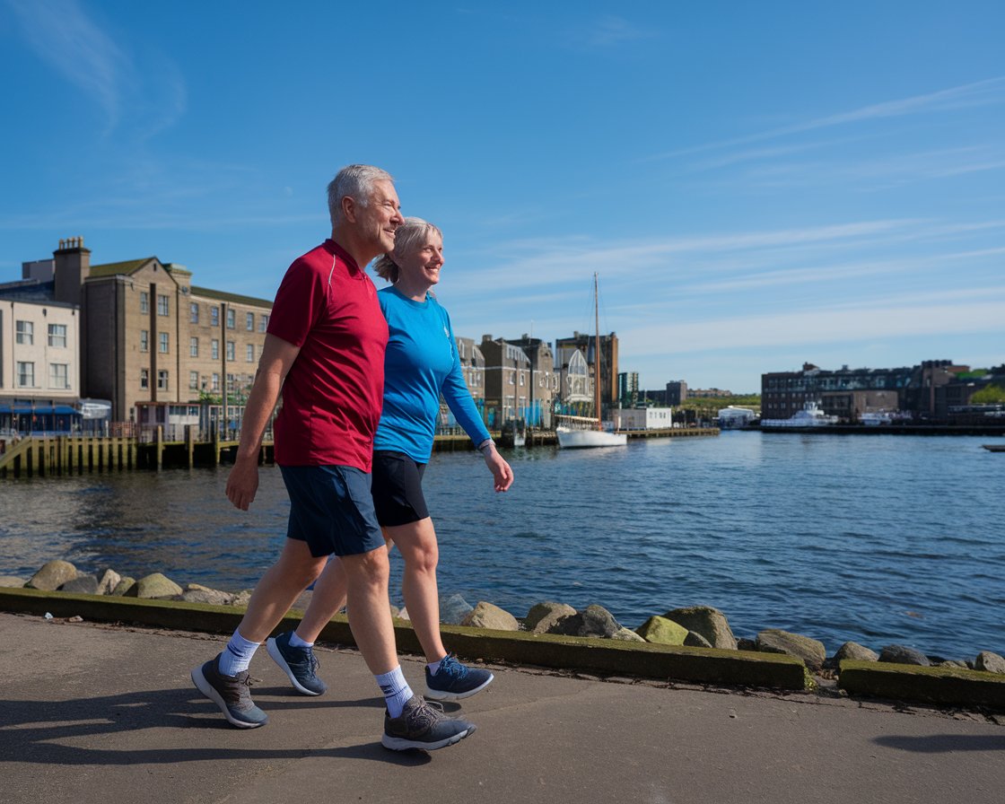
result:
M 241 731 L 189 679 L 224 642 L 0 613 L 0 801 L 997 804 L 1005 789 L 1005 728 L 980 715 L 514 668 L 462 701 L 472 737 L 398 754 L 362 658 L 326 647 L 317 698 L 260 651 L 271 722 Z M 422 663 L 402 665 L 421 687 Z

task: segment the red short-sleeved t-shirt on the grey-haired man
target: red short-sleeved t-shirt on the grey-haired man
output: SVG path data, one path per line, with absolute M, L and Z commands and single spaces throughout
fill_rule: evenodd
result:
M 282 385 L 275 462 L 369 472 L 387 347 L 387 323 L 370 277 L 326 240 L 282 277 L 268 332 L 300 348 Z

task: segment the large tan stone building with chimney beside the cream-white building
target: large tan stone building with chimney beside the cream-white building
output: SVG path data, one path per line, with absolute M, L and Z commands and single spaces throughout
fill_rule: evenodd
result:
M 218 397 L 221 420 L 234 421 L 261 357 L 270 301 L 195 286 L 184 265 L 156 256 L 91 265 L 78 237 L 60 240 L 51 260 L 24 263 L 22 273 L 20 292 L 30 287 L 79 310 L 77 396 L 109 400 L 114 421 L 139 422 L 143 406 L 157 411 L 158 423 L 168 422 L 171 405 L 188 416 L 188 403 Z

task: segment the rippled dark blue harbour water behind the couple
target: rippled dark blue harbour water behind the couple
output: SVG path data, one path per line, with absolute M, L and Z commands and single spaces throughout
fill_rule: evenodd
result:
M 514 450 L 506 494 L 473 453 L 434 455 L 440 591 L 517 616 L 543 600 L 599 603 L 632 628 L 707 604 L 738 636 L 783 628 L 828 652 L 852 639 L 1005 653 L 1005 455 L 983 440 L 727 431 Z M 281 547 L 285 491 L 263 468 L 239 512 L 225 482 L 226 469 L 195 469 L 2 483 L 0 574 L 65 558 L 252 587 Z

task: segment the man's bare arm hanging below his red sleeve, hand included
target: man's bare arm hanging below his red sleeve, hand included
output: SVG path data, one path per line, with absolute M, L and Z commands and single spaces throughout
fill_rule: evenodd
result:
M 227 477 L 227 499 L 241 511 L 248 510 L 258 490 L 258 451 L 261 448 L 261 437 L 272 411 L 275 410 L 275 403 L 279 401 L 282 381 L 299 353 L 298 346 L 266 334 L 258 371 L 255 372 L 254 384 L 244 407 L 237 458 Z

